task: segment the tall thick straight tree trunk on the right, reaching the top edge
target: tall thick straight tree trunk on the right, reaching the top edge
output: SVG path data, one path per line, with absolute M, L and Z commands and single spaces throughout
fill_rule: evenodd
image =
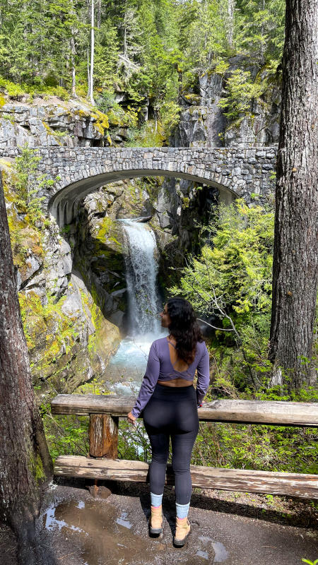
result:
M 317 30 L 317 1 L 287 0 L 269 359 L 291 388 L 310 379 L 317 297 Z

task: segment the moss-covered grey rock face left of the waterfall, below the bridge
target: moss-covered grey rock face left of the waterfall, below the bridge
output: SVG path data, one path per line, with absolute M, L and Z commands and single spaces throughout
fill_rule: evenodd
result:
M 98 292 L 93 297 L 81 275 L 71 274 L 71 249 L 57 225 L 28 213 L 14 163 L 0 166 L 33 381 L 41 391 L 71 393 L 102 375 L 119 330 L 104 318 Z

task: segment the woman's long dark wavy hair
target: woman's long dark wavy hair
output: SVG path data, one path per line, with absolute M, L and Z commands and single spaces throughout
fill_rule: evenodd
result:
M 203 341 L 192 304 L 184 298 L 170 298 L 167 301 L 167 313 L 171 319 L 168 326 L 170 334 L 177 342 L 175 346 L 177 356 L 191 364 L 196 355 L 196 342 Z

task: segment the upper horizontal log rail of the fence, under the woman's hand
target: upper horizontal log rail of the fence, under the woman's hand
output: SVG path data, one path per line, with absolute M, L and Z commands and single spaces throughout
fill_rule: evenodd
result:
M 112 414 L 126 416 L 136 398 L 59 394 L 52 400 L 53 414 Z M 199 408 L 205 422 L 237 422 L 279 426 L 318 426 L 318 403 L 278 402 L 268 400 L 212 400 Z

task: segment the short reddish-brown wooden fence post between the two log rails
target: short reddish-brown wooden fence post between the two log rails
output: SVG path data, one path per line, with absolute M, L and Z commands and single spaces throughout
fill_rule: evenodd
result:
M 88 436 L 90 439 L 90 457 L 118 457 L 118 422 L 119 418 L 108 414 L 90 414 Z

